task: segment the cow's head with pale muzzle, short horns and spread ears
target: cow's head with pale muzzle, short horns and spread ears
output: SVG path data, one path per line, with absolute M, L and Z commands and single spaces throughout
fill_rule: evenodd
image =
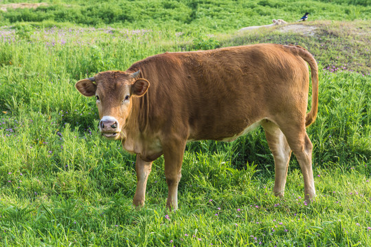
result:
M 143 96 L 149 87 L 147 80 L 137 79 L 139 73 L 105 71 L 76 83 L 76 89 L 82 95 L 95 96 L 99 129 L 107 139 L 125 138 L 122 128 L 131 114 L 133 97 Z

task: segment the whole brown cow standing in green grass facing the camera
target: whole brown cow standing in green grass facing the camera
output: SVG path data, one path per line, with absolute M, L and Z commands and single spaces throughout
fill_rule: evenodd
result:
M 306 62 L 313 83 L 309 113 Z M 125 150 L 137 154 L 135 206 L 144 204 L 152 162 L 162 154 L 166 206 L 177 209 L 186 143 L 233 141 L 259 125 L 274 156 L 275 195 L 284 195 L 292 150 L 302 169 L 306 201 L 315 197 L 306 126 L 317 116 L 318 69 L 302 47 L 260 44 L 166 52 L 135 62 L 127 71 L 80 80 L 76 88 L 95 95 L 102 135 L 121 140 Z

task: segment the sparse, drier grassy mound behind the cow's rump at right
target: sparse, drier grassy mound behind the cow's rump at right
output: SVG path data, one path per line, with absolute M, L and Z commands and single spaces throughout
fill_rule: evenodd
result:
M 306 47 L 329 71 L 347 70 L 371 73 L 371 25 L 369 21 L 306 22 L 304 27 L 315 27 L 313 35 L 302 30 L 291 34 L 258 30 L 221 38 L 223 46 L 251 43 L 285 43 Z M 274 29 L 273 29 L 274 30 Z M 278 28 L 280 30 L 280 28 Z M 303 34 L 304 32 L 304 34 Z M 249 35 L 247 35 L 249 34 Z

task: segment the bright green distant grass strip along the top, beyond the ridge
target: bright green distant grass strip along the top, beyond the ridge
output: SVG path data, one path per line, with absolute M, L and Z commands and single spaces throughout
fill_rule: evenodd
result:
M 14 2 L 14 1 L 12 1 Z M 45 25 L 75 23 L 130 29 L 175 29 L 188 34 L 234 32 L 249 25 L 265 25 L 271 19 L 294 22 L 310 12 L 309 20 L 352 21 L 369 19 L 368 0 L 337 1 L 45 1 L 48 6 L 36 10 L 8 10 L 2 23 L 45 22 Z M 4 1 L 8 3 L 8 1 Z

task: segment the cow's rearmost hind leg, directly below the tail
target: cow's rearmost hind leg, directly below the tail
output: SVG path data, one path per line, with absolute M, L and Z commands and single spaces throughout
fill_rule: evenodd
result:
M 297 126 L 283 126 L 281 127 L 287 143 L 289 143 L 293 154 L 295 154 L 297 161 L 304 178 L 304 195 L 306 202 L 311 202 L 315 198 L 315 185 L 312 169 L 312 150 L 313 145 L 306 134 L 304 122 Z

